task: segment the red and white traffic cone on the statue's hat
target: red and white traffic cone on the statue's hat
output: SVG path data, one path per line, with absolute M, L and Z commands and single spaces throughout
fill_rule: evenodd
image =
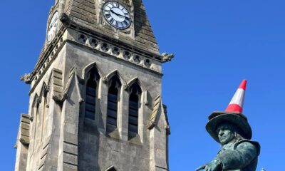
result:
M 239 85 L 237 92 L 234 94 L 234 97 L 232 98 L 231 102 L 227 106 L 227 109 L 225 110 L 226 112 L 242 113 L 246 88 L 247 81 L 243 80 L 242 83 Z

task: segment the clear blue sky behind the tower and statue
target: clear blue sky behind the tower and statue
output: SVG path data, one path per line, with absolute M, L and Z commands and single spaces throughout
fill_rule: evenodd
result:
M 171 3 L 170 3 L 171 2 Z M 28 89 L 19 78 L 32 71 L 54 1 L 2 1 L 1 170 L 14 170 L 19 116 L 28 111 Z M 204 129 L 207 116 L 224 110 L 248 80 L 244 114 L 261 144 L 257 170 L 282 170 L 285 154 L 285 1 L 145 0 L 164 65 L 170 170 L 195 170 L 219 145 Z

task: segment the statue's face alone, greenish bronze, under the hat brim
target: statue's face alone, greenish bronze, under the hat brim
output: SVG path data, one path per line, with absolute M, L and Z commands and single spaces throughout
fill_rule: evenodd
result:
M 223 123 L 218 126 L 217 133 L 219 137 L 219 142 L 222 145 L 226 145 L 227 143 L 234 140 L 234 127 L 230 124 Z

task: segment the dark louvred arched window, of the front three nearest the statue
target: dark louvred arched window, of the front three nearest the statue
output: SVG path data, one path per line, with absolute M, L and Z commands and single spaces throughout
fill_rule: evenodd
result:
M 140 111 L 140 97 L 142 89 L 138 83 L 130 86 L 128 134 L 133 137 L 138 134 L 138 118 Z

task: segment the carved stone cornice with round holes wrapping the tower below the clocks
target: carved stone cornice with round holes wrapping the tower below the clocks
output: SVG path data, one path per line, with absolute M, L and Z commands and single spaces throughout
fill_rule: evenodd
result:
M 152 53 L 145 51 L 142 48 L 132 46 L 130 42 L 118 40 L 105 36 L 103 33 L 83 28 L 83 26 L 76 25 L 66 14 L 61 15 L 61 27 L 51 43 L 46 44 L 45 48 L 41 51 L 36 67 L 33 72 L 27 77 L 23 77 L 26 83 L 31 83 L 33 89 L 41 80 L 44 73 L 46 73 L 53 60 L 55 60 L 58 52 L 68 42 L 73 43 L 90 51 L 101 53 L 102 56 L 110 56 L 120 61 L 127 61 L 139 68 L 144 68 L 147 71 L 162 76 L 161 63 L 171 61 L 173 54 L 168 55 L 162 53 Z

